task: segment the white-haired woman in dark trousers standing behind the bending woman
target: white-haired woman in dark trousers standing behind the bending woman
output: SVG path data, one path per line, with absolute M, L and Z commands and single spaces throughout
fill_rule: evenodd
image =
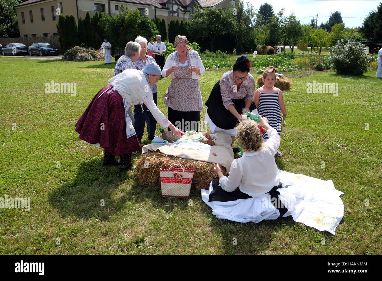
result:
M 136 69 L 142 70 L 147 63 L 155 62 L 155 59 L 149 55 L 146 55 L 146 50 L 147 50 L 146 38 L 143 38 L 142 36 L 138 36 L 136 37 L 135 42 L 141 45 L 141 53 L 139 55 L 138 60 L 134 62 L 134 65 Z M 155 105 L 158 106 L 158 84 L 157 83 L 151 86 L 151 91 L 152 91 L 152 99 L 154 100 Z M 155 128 L 157 127 L 157 121 L 155 120 L 154 116 L 152 116 L 150 110 L 145 105 L 143 105 L 143 111 L 140 106 L 135 106 L 134 119 L 135 119 L 134 129 L 135 129 L 135 132 L 137 133 L 139 143 L 141 143 L 141 140 L 142 140 L 145 123 L 147 123 L 148 139 L 153 140 L 155 136 Z

